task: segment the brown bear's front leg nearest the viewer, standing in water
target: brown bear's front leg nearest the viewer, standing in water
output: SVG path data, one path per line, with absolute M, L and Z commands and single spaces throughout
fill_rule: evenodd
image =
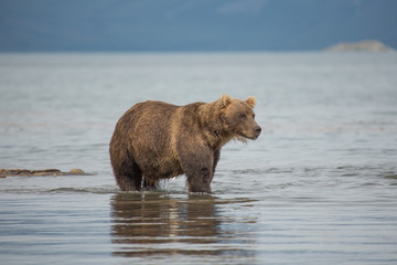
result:
M 211 193 L 214 158 L 210 148 L 185 147 L 179 151 L 179 159 L 186 176 L 189 191 Z

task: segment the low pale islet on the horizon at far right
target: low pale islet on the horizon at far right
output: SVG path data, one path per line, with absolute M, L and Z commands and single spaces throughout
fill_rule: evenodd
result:
M 361 41 L 337 43 L 325 47 L 326 52 L 394 52 L 393 47 L 383 44 L 379 41 Z

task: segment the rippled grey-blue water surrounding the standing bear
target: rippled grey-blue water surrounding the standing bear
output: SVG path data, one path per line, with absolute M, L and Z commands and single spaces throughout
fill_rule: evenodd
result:
M 397 263 L 397 54 L 1 54 L 4 264 Z M 135 103 L 257 97 L 264 132 L 184 177 L 120 192 L 108 142 Z

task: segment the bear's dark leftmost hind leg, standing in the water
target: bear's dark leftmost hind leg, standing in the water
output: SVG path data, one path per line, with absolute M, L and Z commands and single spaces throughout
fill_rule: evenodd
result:
M 142 171 L 132 160 L 114 170 L 117 184 L 122 191 L 139 191 L 142 184 Z

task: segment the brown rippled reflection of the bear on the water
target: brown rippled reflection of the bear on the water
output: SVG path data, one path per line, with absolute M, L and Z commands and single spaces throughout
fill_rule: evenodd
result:
M 225 251 L 219 247 L 225 231 L 217 203 L 225 202 L 207 194 L 117 194 L 111 201 L 114 255 L 218 255 Z

